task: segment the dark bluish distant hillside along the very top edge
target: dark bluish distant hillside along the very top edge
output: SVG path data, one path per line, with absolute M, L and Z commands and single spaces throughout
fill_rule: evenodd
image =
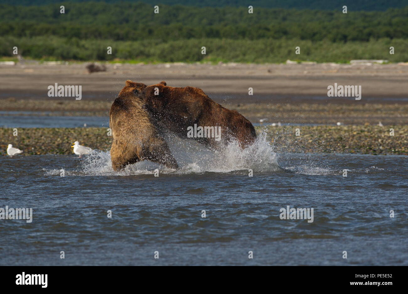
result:
M 72 2 L 89 2 L 89 0 L 71 0 Z M 97 0 L 98 2 L 116 3 L 121 0 Z M 151 4 L 151 0 L 134 0 L 129 2 L 145 2 Z M 4 4 L 15 4 L 16 0 L 2 0 Z M 55 0 L 18 0 L 20 5 L 42 5 L 55 3 Z M 266 7 L 266 8 L 295 8 L 295 9 L 319 9 L 336 10 L 346 5 L 350 11 L 375 11 L 386 10 L 391 7 L 404 7 L 405 0 L 158 0 L 154 5 L 186 5 L 196 7 Z

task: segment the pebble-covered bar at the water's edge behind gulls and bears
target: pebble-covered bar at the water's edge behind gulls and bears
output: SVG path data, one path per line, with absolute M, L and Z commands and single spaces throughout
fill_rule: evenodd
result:
M 394 129 L 394 136 L 390 129 Z M 266 132 L 277 153 L 356 153 L 408 155 L 408 126 L 256 126 Z M 296 134 L 298 130 L 298 135 Z M 71 144 L 109 150 L 112 137 L 107 128 L 0 128 L 0 155 L 7 145 L 24 150 L 23 155 L 72 154 Z

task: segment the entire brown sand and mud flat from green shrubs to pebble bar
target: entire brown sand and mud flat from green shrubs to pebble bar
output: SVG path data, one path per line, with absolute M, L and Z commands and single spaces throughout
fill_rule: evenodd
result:
M 147 85 L 202 88 L 209 97 L 253 123 L 407 124 L 406 64 L 106 64 L 89 74 L 86 63 L 0 65 L 0 111 L 108 116 L 126 79 Z M 48 97 L 48 86 L 82 85 L 82 99 Z M 361 100 L 328 97 L 328 85 L 361 85 Z M 248 88 L 253 95 L 248 95 Z M 8 115 L 0 113 L 0 115 Z M 24 114 L 27 115 L 27 114 Z M 45 114 L 33 114 L 45 115 Z

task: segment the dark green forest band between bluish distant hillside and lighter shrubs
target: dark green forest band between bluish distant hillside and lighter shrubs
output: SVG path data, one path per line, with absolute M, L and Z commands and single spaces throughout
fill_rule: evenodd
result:
M 64 3 L 62 3 L 64 4 Z M 385 12 L 153 6 L 145 3 L 0 5 L 0 35 L 110 40 L 191 38 L 368 41 L 408 37 L 408 6 Z

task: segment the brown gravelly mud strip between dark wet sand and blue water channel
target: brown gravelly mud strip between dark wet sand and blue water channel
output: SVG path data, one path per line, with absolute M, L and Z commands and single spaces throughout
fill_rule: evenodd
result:
M 256 97 L 254 97 L 255 99 Z M 327 97 L 326 97 L 327 98 Z M 35 100 L 4 99 L 0 100 L 0 117 L 39 116 L 39 117 L 109 117 L 112 101 L 70 101 L 70 100 Z M 291 124 L 336 124 L 344 125 L 408 125 L 408 100 L 396 101 L 384 99 L 381 103 L 344 100 L 341 102 L 315 99 L 299 101 L 251 100 L 251 102 L 233 102 L 224 97 L 219 102 L 222 106 L 237 110 L 252 123 L 260 119 L 267 123 Z M 1 125 L 0 125 L 1 126 Z M 55 126 L 58 127 L 58 126 Z

